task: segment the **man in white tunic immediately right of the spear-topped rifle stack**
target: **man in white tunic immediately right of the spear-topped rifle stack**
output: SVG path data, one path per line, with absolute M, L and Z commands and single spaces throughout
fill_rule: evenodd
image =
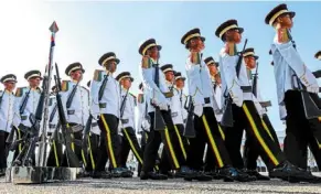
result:
M 82 141 L 84 126 L 89 117 L 89 91 L 81 85 L 85 69 L 78 62 L 69 64 L 65 74 L 71 77 L 71 80 L 62 82 L 62 103 L 66 120 L 73 130 L 74 140 Z M 81 147 L 74 144 L 74 152 L 82 160 Z M 84 161 L 83 161 L 84 162 Z M 66 153 L 64 154 L 63 165 L 67 165 Z

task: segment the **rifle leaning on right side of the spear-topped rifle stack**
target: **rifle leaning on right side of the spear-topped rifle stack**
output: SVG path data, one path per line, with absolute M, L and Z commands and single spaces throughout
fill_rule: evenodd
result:
M 73 142 L 73 137 L 71 132 L 72 129 L 69 128 L 67 123 L 63 103 L 62 103 L 62 97 L 60 95 L 60 91 L 62 90 L 62 83 L 61 83 L 60 71 L 58 71 L 57 64 L 55 64 L 55 68 L 56 68 L 56 75 L 54 76 L 54 79 L 57 86 L 56 103 L 57 103 L 58 117 L 60 117 L 61 127 L 62 127 L 63 141 L 66 147 L 65 151 L 66 151 L 67 164 L 71 168 L 79 168 L 79 160 L 72 148 L 72 142 Z

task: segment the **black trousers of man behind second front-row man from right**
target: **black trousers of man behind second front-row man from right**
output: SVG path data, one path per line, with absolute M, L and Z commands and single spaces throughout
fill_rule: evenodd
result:
M 263 126 L 266 130 L 266 132 L 269 134 L 270 138 L 276 142 L 277 146 L 279 146 L 279 140 L 276 133 L 276 130 L 274 129 L 268 116 L 265 114 L 263 116 Z M 256 144 L 256 140 L 250 133 L 246 132 L 246 140 L 244 144 L 243 150 L 243 160 L 245 168 L 248 170 L 256 170 L 257 169 L 257 159 L 259 157 L 259 148 Z

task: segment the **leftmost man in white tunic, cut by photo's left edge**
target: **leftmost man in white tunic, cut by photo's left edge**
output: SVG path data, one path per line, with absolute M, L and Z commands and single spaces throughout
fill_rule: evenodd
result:
M 6 141 L 12 128 L 15 83 L 17 77 L 13 74 L 1 77 L 4 90 L 0 91 L 0 176 L 6 174 L 7 169 L 8 144 Z

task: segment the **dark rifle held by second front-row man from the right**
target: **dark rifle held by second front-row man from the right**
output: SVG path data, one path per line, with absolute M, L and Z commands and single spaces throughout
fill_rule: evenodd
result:
M 243 53 L 246 48 L 246 44 L 247 44 L 247 39 L 245 40 L 244 46 L 243 46 L 243 51 L 239 53 L 239 57 L 236 64 L 236 75 L 237 77 L 239 76 L 239 72 L 240 72 L 240 66 L 242 66 L 242 61 L 243 61 Z M 222 120 L 221 123 L 222 126 L 225 127 L 233 127 L 234 126 L 234 119 L 233 119 L 233 110 L 232 110 L 232 104 L 233 104 L 233 99 L 231 97 L 231 95 L 228 95 L 227 88 L 225 89 L 225 109 L 222 116 Z

